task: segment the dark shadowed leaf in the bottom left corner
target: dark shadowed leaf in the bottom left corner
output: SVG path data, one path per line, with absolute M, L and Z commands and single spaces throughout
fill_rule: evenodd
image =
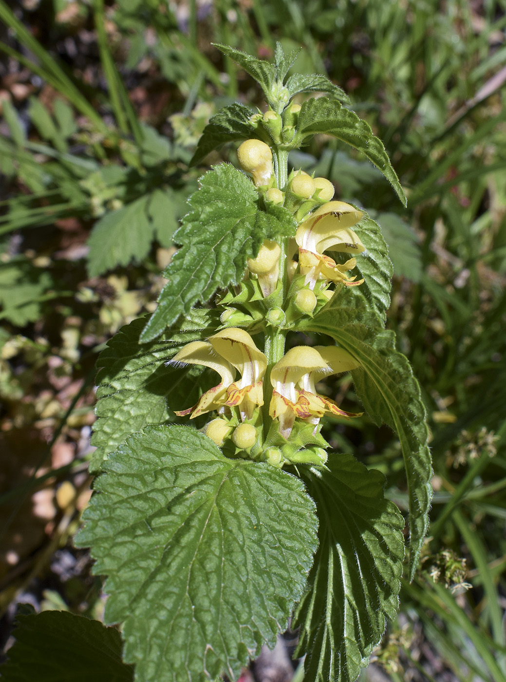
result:
M 132 682 L 117 629 L 65 611 L 16 617 L 4 682 Z

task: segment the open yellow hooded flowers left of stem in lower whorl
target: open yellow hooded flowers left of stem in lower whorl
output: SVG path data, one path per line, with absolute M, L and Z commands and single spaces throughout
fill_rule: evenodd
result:
M 200 396 L 187 410 L 176 412 L 190 419 L 212 410 L 223 411 L 225 406 L 239 406 L 241 416 L 250 419 L 257 405 L 263 405 L 263 376 L 267 368 L 265 355 L 258 350 L 250 334 L 230 327 L 209 337 L 209 342 L 194 341 L 184 346 L 170 361 L 210 367 L 220 374 L 222 381 Z M 235 381 L 235 370 L 241 374 Z

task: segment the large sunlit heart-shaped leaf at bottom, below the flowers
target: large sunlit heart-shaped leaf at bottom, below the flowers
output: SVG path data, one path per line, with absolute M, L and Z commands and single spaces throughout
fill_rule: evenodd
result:
M 185 426 L 134 434 L 104 469 L 77 544 L 108 576 L 104 619 L 125 621 L 136 679 L 237 679 L 306 584 L 317 525 L 302 482 Z

